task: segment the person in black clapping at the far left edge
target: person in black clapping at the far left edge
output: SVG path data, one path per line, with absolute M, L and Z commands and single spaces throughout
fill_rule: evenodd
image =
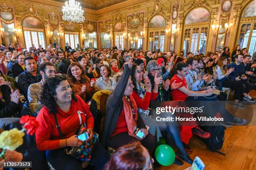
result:
M 19 90 L 12 90 L 5 85 L 5 80 L 0 74 L 0 118 L 20 117 L 20 111 L 23 110 L 20 102 Z

